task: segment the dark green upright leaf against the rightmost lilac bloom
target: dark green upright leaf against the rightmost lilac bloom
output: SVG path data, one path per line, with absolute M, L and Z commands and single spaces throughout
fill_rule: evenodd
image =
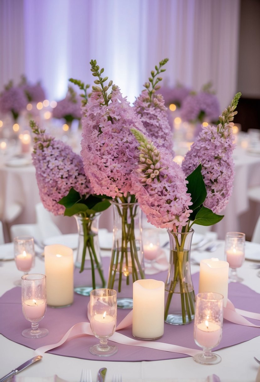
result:
M 188 184 L 188 193 L 191 194 L 191 201 L 193 210 L 196 210 L 197 207 L 201 206 L 207 196 L 207 190 L 204 183 L 203 176 L 201 174 L 202 165 L 198 165 L 197 168 L 187 176 Z

